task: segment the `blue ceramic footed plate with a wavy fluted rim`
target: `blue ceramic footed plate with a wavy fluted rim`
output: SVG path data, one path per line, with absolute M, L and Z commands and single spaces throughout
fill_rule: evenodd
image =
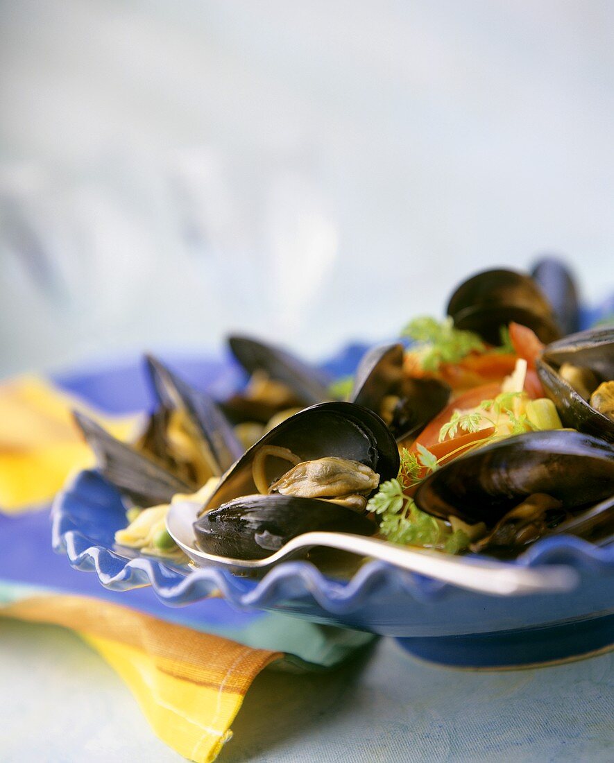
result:
M 334 364 L 351 372 L 362 348 Z M 227 360 L 176 361 L 179 373 L 217 389 L 236 382 Z M 99 370 L 59 379 L 72 392 L 114 412 L 147 407 L 140 367 Z M 125 401 L 121 391 L 130 389 Z M 220 591 L 241 610 L 276 610 L 317 623 L 397 636 L 408 651 L 463 667 L 511 667 L 560 662 L 614 644 L 614 547 L 596 548 L 573 537 L 535 543 L 519 565 L 567 564 L 580 584 L 567 594 L 495 597 L 368 562 L 349 581 L 322 575 L 309 562 L 284 562 L 259 581 L 220 568 L 191 568 L 147 558 L 116 546 L 126 525 L 120 494 L 96 471 L 81 472 L 53 506 L 53 547 L 76 569 L 95 571 L 106 588 L 150 584 L 165 604 L 180 606 Z M 512 563 L 512 562 L 510 562 Z

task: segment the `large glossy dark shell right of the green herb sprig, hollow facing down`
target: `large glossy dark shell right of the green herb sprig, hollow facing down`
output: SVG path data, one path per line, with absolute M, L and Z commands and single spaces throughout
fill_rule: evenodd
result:
M 614 493 L 614 448 L 573 430 L 528 432 L 478 449 L 429 475 L 416 491 L 427 513 L 492 527 L 535 493 L 573 510 Z

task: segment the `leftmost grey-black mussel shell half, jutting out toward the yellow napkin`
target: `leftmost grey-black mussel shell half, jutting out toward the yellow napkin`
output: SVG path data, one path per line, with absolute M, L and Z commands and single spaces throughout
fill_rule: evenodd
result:
M 175 493 L 193 493 L 198 488 L 122 443 L 85 414 L 74 411 L 73 416 L 95 453 L 101 473 L 137 506 L 168 504 Z

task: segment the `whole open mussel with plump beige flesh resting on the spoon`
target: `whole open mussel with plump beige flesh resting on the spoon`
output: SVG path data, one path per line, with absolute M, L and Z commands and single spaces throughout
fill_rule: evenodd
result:
M 373 534 L 367 498 L 396 477 L 394 437 L 373 411 L 321 403 L 284 420 L 224 475 L 194 524 L 201 548 L 269 555 L 310 530 Z

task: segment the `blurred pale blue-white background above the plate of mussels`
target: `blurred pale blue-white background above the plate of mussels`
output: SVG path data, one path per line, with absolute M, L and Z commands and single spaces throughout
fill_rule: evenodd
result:
M 0 4 L 0 371 L 614 285 L 614 4 Z

